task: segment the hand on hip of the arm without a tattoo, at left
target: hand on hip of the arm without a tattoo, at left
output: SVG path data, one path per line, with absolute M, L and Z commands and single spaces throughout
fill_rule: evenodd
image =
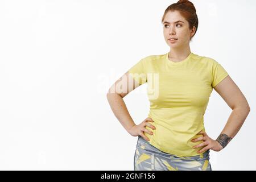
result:
M 133 127 L 131 127 L 131 129 L 128 131 L 129 134 L 133 137 L 137 137 L 138 135 L 141 135 L 141 137 L 143 137 L 145 140 L 150 140 L 149 138 L 146 137 L 146 135 L 144 135 L 144 132 L 153 135 L 152 131 L 149 131 L 146 129 L 146 126 L 150 127 L 152 130 L 155 130 L 155 126 L 151 125 L 148 122 L 154 122 L 153 119 L 151 118 L 146 118 L 144 119 L 144 121 L 142 121 L 141 124 L 139 125 L 134 125 Z

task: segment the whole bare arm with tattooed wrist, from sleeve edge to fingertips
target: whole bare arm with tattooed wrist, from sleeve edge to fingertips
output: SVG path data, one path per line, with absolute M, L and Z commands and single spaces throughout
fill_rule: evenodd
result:
M 232 140 L 232 138 L 234 138 L 238 133 L 250 112 L 250 107 L 245 96 L 243 96 L 241 90 L 229 76 L 225 77 L 218 85 L 214 86 L 214 89 L 218 94 L 220 94 L 233 111 L 230 114 L 224 129 L 216 140 L 210 138 L 204 131 L 200 131 L 200 133 L 198 133 L 203 134 L 203 137 L 191 140 L 191 142 L 197 142 L 200 140 L 204 141 L 193 146 L 193 148 L 204 147 L 197 151 L 197 153 L 201 153 L 209 149 L 220 151 L 225 148 L 230 140 Z

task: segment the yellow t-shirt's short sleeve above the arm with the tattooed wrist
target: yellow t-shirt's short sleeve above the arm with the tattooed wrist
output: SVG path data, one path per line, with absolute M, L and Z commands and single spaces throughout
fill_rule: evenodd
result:
M 218 85 L 226 76 L 228 76 L 228 72 L 220 63 L 214 61 L 212 67 L 212 88 Z

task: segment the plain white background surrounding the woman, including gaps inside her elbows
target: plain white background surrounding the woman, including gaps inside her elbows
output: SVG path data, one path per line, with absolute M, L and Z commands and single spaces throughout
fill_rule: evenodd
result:
M 176 1 L 0 1 L 0 169 L 133 170 L 137 137 L 106 92 L 143 57 L 170 51 L 164 10 Z M 210 151 L 213 170 L 255 170 L 256 2 L 192 1 L 191 51 L 220 63 L 251 111 L 236 137 Z M 125 98 L 146 118 L 146 84 Z M 205 129 L 216 139 L 231 109 L 213 90 Z

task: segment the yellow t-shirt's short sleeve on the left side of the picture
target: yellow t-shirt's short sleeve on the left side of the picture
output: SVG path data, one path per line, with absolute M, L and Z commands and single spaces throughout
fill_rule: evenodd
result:
M 147 73 L 145 72 L 144 67 L 144 59 L 141 59 L 131 67 L 128 72 L 130 75 L 134 78 L 136 82 L 139 83 L 139 85 L 142 85 L 147 82 Z

